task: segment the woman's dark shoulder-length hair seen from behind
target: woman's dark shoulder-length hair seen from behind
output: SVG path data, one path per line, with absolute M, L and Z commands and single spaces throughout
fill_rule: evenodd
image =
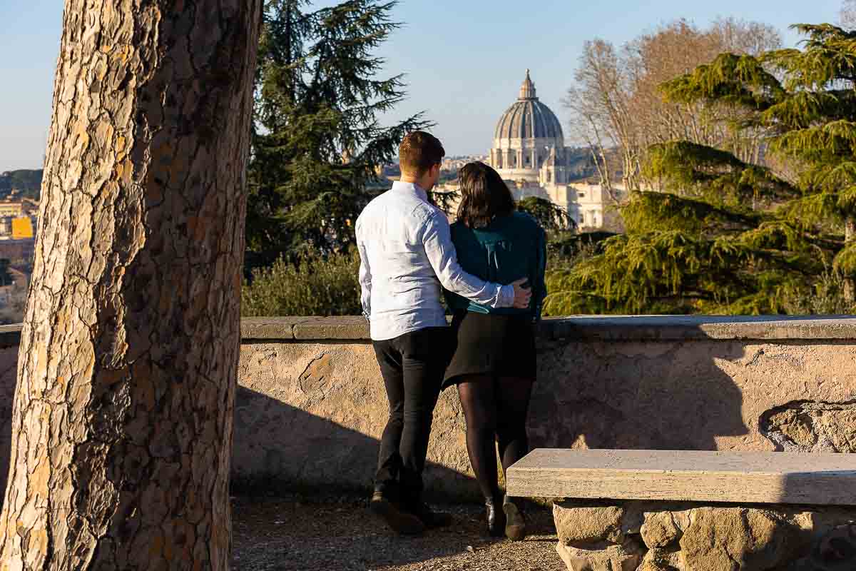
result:
M 484 228 L 494 217 L 514 211 L 514 196 L 502 176 L 484 163 L 465 164 L 458 171 L 461 204 L 458 220 L 467 228 Z

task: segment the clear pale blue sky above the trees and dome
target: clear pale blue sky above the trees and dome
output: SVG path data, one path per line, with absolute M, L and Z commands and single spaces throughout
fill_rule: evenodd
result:
M 324 0 L 316 5 L 332 2 Z M 661 23 L 717 16 L 770 23 L 793 45 L 794 22 L 835 21 L 841 0 L 401 0 L 406 26 L 382 55 L 407 73 L 395 116 L 425 110 L 449 154 L 487 152 L 494 123 L 517 97 L 526 68 L 538 96 L 559 103 L 587 39 L 620 45 Z M 62 27 L 61 0 L 0 0 L 0 172 L 40 168 Z

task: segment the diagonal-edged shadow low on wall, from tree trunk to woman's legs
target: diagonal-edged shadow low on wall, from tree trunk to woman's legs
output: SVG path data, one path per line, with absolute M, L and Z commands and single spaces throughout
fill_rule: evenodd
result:
M 239 387 L 235 401 L 232 487 L 258 491 L 360 491 L 372 489 L 377 438 L 368 437 Z M 425 466 L 428 497 L 478 497 L 475 480 L 436 463 Z

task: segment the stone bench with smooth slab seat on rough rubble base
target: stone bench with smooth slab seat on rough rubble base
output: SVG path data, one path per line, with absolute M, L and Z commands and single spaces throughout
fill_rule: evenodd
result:
M 856 569 L 856 455 L 536 449 L 507 486 L 565 498 L 571 571 Z

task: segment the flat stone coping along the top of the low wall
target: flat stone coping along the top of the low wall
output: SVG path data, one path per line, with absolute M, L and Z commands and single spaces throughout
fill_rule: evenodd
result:
M 580 341 L 852 341 L 856 317 L 580 316 L 547 318 L 538 326 L 547 340 Z M 245 341 L 368 341 L 361 317 L 243 318 Z

